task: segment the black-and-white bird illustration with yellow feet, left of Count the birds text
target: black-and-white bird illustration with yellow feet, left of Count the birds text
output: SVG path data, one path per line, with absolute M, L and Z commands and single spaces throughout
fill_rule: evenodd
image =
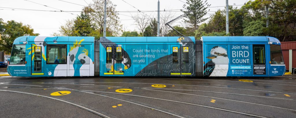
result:
M 103 45 L 105 50 L 107 50 L 107 47 L 111 47 L 112 48 L 112 63 L 106 63 L 106 68 L 110 69 L 107 72 L 124 72 L 122 71 L 122 68 L 118 68 L 118 69 L 114 69 L 113 64 L 116 64 L 116 57 L 114 53 L 116 53 L 116 43 L 113 43 L 112 41 L 110 41 L 109 39 L 107 39 L 106 37 L 101 37 L 100 41 L 102 42 L 108 42 L 107 45 Z M 131 67 L 131 58 L 129 57 L 128 53 L 126 53 L 126 51 L 124 49 L 121 49 L 121 55 L 122 55 L 122 59 L 121 59 L 121 64 L 124 65 L 124 69 L 128 69 Z

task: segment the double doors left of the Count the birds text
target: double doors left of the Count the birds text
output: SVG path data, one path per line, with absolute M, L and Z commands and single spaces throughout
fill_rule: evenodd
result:
M 104 75 L 124 75 L 123 47 L 112 45 L 106 47 L 106 68 Z

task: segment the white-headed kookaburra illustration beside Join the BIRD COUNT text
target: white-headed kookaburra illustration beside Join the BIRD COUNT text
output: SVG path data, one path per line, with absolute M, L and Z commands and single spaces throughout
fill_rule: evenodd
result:
M 228 55 L 225 48 L 214 46 L 210 51 L 208 59 L 211 59 L 204 66 L 205 76 L 226 76 L 228 72 Z

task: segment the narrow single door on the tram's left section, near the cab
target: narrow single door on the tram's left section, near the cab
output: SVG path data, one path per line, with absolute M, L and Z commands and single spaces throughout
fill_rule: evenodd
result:
M 32 50 L 34 51 L 34 54 L 31 54 L 32 59 L 32 75 L 44 75 L 43 72 L 43 58 L 42 58 L 42 47 L 41 46 L 33 46 Z M 32 53 L 33 53 L 32 51 Z

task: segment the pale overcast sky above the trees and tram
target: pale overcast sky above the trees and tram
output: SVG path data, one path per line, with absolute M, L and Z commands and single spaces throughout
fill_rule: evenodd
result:
M 66 2 L 65 2 L 66 1 Z M 158 0 L 111 0 L 116 5 L 116 11 L 157 11 Z M 125 2 L 124 2 L 125 1 Z M 160 10 L 183 9 L 183 4 L 186 0 L 159 0 Z M 33 3 L 35 2 L 35 3 Z M 71 4 L 71 3 L 75 4 Z M 127 3 L 128 4 L 127 4 Z M 218 9 L 225 9 L 225 0 L 208 0 L 211 4 L 210 11 L 205 17 L 210 17 Z M 229 0 L 229 5 L 237 5 L 240 8 L 246 0 Z M 32 10 L 18 10 L 19 9 L 38 9 L 55 11 L 57 9 L 63 11 L 81 11 L 83 6 L 93 3 L 93 0 L 0 0 L 0 18 L 7 22 L 8 20 L 15 20 L 22 22 L 25 25 L 30 25 L 34 29 L 34 33 L 39 33 L 40 36 L 50 36 L 53 33 L 58 33 L 59 27 L 64 25 L 67 20 L 74 19 L 80 12 L 48 12 L 48 11 L 32 11 Z M 38 3 L 38 4 L 36 4 Z M 76 5 L 79 4 L 79 5 Z M 131 5 L 129 5 L 131 4 Z M 46 6 L 48 7 L 46 7 Z M 7 8 L 3 8 L 7 7 Z M 134 8 L 135 7 L 135 8 Z M 58 11 L 58 10 L 57 10 Z M 176 10 L 172 12 L 174 17 L 178 17 L 182 12 Z M 71 14 L 72 13 L 72 14 Z M 164 12 L 160 12 L 161 14 Z M 141 14 L 139 12 L 120 12 L 120 22 L 123 24 L 123 29 L 126 31 L 136 30 L 134 21 L 130 16 Z M 147 15 L 157 18 L 157 12 L 145 12 Z M 181 22 L 179 20 L 178 22 Z M 178 25 L 178 22 L 174 25 Z

